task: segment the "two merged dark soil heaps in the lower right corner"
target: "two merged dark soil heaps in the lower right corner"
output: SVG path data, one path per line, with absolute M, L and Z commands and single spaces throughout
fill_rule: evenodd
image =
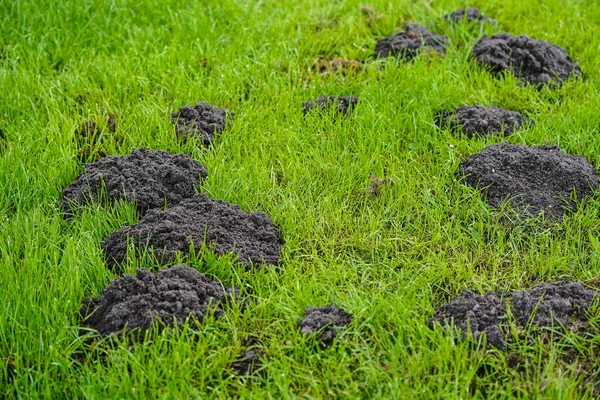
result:
M 503 349 L 506 337 L 500 324 L 507 317 L 507 305 L 520 328 L 531 321 L 538 327 L 559 324 L 576 330 L 587 325 L 585 310 L 595 295 L 595 291 L 571 281 L 541 283 L 533 289 L 509 293 L 476 295 L 467 291 L 437 309 L 429 325 L 439 323 L 450 328 L 453 323 L 461 331 L 462 340 L 469 332 L 475 340 L 485 333 L 487 343 Z

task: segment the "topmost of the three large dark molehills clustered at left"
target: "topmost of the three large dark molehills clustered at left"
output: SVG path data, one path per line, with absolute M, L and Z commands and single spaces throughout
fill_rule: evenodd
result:
M 172 206 L 194 195 L 208 176 L 204 167 L 184 154 L 133 150 L 86 164 L 85 171 L 63 190 L 61 206 L 67 215 L 73 205 L 87 202 L 135 201 L 140 214 L 150 208 Z

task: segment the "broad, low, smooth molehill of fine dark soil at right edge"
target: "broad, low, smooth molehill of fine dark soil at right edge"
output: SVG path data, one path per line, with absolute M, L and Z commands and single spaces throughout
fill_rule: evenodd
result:
M 561 219 L 598 187 L 593 165 L 555 146 L 488 146 L 463 161 L 459 175 L 468 186 L 483 189 L 490 206 L 510 199 L 522 216 L 543 212 L 547 219 Z

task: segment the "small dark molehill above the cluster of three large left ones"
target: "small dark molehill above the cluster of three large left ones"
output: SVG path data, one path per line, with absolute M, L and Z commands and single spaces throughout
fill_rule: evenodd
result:
M 177 134 L 185 139 L 194 137 L 205 146 L 210 145 L 215 135 L 223 132 L 227 121 L 233 114 L 208 103 L 200 102 L 195 106 L 183 106 L 171 114 Z

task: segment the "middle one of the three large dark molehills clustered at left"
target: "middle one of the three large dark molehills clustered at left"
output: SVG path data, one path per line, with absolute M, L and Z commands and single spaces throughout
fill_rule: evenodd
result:
M 278 265 L 282 248 L 279 228 L 263 212 L 246 213 L 240 206 L 197 194 L 168 210 L 150 210 L 137 224 L 126 226 L 102 241 L 110 268 L 125 261 L 127 240 L 140 250 L 146 245 L 162 261 L 178 252 L 187 255 L 190 242 L 203 243 L 220 255 L 234 252 L 248 266 Z

